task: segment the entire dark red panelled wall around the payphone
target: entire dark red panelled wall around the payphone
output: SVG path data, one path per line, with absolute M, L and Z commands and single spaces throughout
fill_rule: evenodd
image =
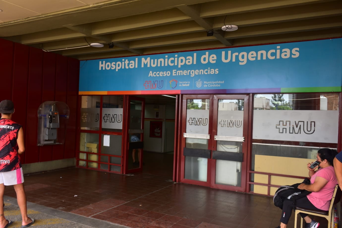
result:
M 13 100 L 13 120 L 23 126 L 22 163 L 75 158 L 79 61 L 3 39 L 0 51 L 0 100 Z M 37 146 L 37 111 L 45 101 L 65 102 L 70 108 L 64 145 Z

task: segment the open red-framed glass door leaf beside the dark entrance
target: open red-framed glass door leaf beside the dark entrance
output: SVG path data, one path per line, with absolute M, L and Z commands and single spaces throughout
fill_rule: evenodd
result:
M 128 96 L 125 174 L 142 172 L 144 149 L 145 99 Z

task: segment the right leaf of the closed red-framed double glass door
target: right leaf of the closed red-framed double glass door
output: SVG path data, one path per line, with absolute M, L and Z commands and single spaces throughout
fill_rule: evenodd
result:
M 214 95 L 213 188 L 246 191 L 248 95 Z

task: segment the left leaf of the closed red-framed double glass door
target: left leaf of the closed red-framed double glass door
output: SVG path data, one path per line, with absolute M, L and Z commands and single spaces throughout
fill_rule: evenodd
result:
M 184 95 L 181 182 L 210 186 L 212 115 L 210 95 Z

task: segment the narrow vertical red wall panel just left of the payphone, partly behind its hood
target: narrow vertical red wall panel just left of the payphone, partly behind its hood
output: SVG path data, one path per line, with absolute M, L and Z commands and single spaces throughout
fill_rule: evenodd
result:
M 39 150 L 37 146 L 37 111 L 42 103 L 42 73 L 43 73 L 43 52 L 36 48 L 30 48 L 29 70 L 27 84 L 27 124 L 29 134 L 26 134 L 25 163 L 39 162 Z

